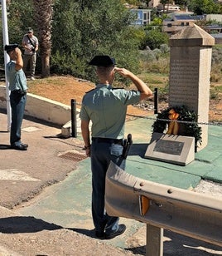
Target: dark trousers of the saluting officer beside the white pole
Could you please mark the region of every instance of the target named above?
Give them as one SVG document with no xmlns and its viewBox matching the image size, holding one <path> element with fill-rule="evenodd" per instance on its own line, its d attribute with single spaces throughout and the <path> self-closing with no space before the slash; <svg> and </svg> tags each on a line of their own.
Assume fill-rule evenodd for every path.
<svg viewBox="0 0 222 256">
<path fill-rule="evenodd" d="M 10 104 L 12 108 L 12 123 L 10 133 L 10 144 L 19 145 L 21 143 L 21 126 L 27 103 L 27 92 L 21 90 L 11 91 Z"/>
</svg>

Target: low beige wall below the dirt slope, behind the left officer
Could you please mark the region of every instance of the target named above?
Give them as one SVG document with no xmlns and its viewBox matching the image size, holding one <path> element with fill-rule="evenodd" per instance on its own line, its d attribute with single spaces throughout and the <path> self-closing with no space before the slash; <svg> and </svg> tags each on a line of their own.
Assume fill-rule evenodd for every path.
<svg viewBox="0 0 222 256">
<path fill-rule="evenodd" d="M 7 109 L 5 86 L 0 86 L 0 109 Z M 76 112 L 78 114 L 80 109 L 77 109 Z M 63 126 L 71 120 L 71 107 L 57 101 L 51 101 L 44 97 L 27 93 L 25 115 Z"/>
</svg>

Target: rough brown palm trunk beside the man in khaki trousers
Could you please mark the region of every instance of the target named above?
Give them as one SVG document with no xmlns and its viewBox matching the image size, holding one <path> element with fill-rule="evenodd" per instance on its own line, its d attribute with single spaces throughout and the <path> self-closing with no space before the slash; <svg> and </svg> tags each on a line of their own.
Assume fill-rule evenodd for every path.
<svg viewBox="0 0 222 256">
<path fill-rule="evenodd" d="M 51 21 L 53 0 L 33 0 L 41 52 L 41 75 L 50 76 Z"/>
</svg>

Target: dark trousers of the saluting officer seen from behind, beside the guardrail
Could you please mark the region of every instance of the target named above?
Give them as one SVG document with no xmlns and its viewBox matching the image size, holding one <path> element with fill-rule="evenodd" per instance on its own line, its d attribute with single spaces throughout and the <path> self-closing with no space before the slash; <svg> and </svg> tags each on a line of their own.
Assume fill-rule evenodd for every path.
<svg viewBox="0 0 222 256">
<path fill-rule="evenodd" d="M 104 212 L 105 176 L 110 160 L 123 170 L 126 160 L 122 157 L 123 140 L 92 138 L 92 214 L 96 231 L 113 234 L 118 229 L 118 217 L 111 217 Z"/>
</svg>

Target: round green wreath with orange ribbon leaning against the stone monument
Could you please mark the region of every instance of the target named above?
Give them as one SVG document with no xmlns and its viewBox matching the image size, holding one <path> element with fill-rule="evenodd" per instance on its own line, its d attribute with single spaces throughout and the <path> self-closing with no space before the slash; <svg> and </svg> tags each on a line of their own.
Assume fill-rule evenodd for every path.
<svg viewBox="0 0 222 256">
<path fill-rule="evenodd" d="M 187 121 L 187 123 L 182 121 Z M 181 129 L 181 126 L 183 126 L 183 129 Z M 194 111 L 189 111 L 187 106 L 172 106 L 161 111 L 157 114 L 157 121 L 153 123 L 152 128 L 152 132 L 163 133 L 168 128 L 167 134 L 169 135 L 194 137 L 195 151 L 198 142 L 200 145 L 202 142 L 202 131 L 197 124 L 197 115 Z"/>
</svg>

